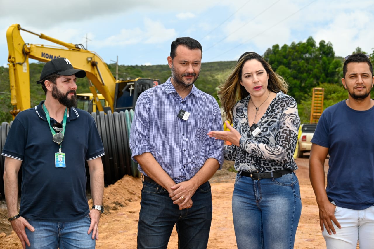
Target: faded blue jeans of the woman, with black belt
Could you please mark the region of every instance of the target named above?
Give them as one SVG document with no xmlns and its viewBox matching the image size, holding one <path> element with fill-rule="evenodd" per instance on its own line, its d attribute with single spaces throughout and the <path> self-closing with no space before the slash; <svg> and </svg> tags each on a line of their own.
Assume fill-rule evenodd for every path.
<svg viewBox="0 0 374 249">
<path fill-rule="evenodd" d="M 237 174 L 232 210 L 237 248 L 294 248 L 301 215 L 295 173 L 261 180 Z"/>
</svg>

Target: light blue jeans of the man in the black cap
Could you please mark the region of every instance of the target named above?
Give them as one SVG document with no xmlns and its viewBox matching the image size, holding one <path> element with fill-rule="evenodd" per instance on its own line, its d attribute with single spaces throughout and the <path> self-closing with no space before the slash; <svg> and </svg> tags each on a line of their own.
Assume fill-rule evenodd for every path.
<svg viewBox="0 0 374 249">
<path fill-rule="evenodd" d="M 77 221 L 49 222 L 27 220 L 35 231 L 25 228 L 30 240 L 30 247 L 26 248 L 95 248 L 95 240 L 91 234 L 87 234 L 91 224 L 89 215 Z"/>
</svg>

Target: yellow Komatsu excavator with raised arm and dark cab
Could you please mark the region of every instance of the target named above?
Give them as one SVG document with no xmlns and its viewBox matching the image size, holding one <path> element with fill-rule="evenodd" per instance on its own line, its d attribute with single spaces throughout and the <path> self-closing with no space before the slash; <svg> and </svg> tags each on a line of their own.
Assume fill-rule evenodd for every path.
<svg viewBox="0 0 374 249">
<path fill-rule="evenodd" d="M 60 46 L 25 43 L 21 37 L 21 30 Z M 95 102 L 97 111 L 110 109 L 113 113 L 132 109 L 135 107 L 140 93 L 160 84 L 159 80 L 150 78 L 116 80 L 101 57 L 95 52 L 86 50 L 82 44 L 66 43 L 45 34 L 37 34 L 21 28 L 19 24 L 13 24 L 7 29 L 6 38 L 9 51 L 10 102 L 13 106 L 13 110 L 10 113 L 13 118 L 20 111 L 30 108 L 28 59 L 48 62 L 54 58 L 66 57 L 74 68 L 86 71 L 91 91 L 89 99 Z M 105 101 L 100 101 L 98 93 L 102 95 Z M 87 96 L 78 96 L 78 101 L 80 99 L 86 100 Z M 107 105 L 102 106 L 101 103 L 106 103 Z"/>
</svg>

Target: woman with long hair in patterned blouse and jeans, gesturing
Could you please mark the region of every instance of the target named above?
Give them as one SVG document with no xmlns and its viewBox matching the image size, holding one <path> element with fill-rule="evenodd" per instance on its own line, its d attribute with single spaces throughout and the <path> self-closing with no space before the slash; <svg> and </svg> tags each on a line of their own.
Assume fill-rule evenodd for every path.
<svg viewBox="0 0 374 249">
<path fill-rule="evenodd" d="M 246 52 L 218 91 L 230 131 L 208 135 L 232 143 L 224 156 L 237 170 L 232 212 L 238 248 L 294 247 L 301 214 L 293 159 L 300 118 L 287 90 L 263 57 Z"/>
</svg>

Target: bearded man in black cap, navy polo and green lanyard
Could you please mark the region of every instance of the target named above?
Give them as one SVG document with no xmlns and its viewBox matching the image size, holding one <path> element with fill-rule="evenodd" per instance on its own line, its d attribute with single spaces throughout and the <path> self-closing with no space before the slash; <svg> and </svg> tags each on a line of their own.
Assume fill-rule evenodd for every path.
<svg viewBox="0 0 374 249">
<path fill-rule="evenodd" d="M 37 81 L 46 99 L 20 112 L 10 127 L 2 152 L 5 198 L 8 220 L 24 248 L 95 248 L 104 211 L 104 148 L 92 116 L 73 107 L 77 77 L 85 76 L 66 58 L 47 62 Z M 91 210 L 85 161 L 91 178 Z"/>
</svg>

